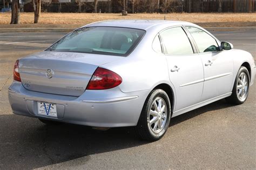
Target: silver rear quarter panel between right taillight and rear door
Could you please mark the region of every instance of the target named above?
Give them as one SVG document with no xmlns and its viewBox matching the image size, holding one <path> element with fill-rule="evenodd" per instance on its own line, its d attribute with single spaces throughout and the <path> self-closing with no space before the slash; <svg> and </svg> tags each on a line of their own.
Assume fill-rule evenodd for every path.
<svg viewBox="0 0 256 170">
<path fill-rule="evenodd" d="M 157 32 L 149 36 L 146 34 L 125 59 L 102 65 L 122 77 L 119 87 L 123 92 L 149 90 L 161 83 L 171 85 L 165 56 L 152 49 L 156 35 Z"/>
</svg>

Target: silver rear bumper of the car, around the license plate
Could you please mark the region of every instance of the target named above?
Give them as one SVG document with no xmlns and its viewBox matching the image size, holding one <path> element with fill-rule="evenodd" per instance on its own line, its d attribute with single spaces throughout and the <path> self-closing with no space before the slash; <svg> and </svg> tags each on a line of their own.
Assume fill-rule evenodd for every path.
<svg viewBox="0 0 256 170">
<path fill-rule="evenodd" d="M 15 114 L 65 123 L 96 126 L 136 126 L 150 90 L 123 93 L 118 87 L 104 91 L 87 90 L 80 97 L 33 92 L 14 81 L 8 97 Z M 37 101 L 54 103 L 57 118 L 37 113 Z"/>
</svg>

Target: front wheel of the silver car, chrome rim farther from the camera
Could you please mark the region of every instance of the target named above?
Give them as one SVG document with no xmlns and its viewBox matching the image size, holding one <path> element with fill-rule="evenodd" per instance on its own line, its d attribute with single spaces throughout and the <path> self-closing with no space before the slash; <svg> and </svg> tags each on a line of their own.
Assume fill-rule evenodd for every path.
<svg viewBox="0 0 256 170">
<path fill-rule="evenodd" d="M 226 100 L 230 104 L 240 105 L 245 103 L 250 87 L 250 74 L 246 67 L 241 66 L 235 78 L 232 94 Z"/>
</svg>

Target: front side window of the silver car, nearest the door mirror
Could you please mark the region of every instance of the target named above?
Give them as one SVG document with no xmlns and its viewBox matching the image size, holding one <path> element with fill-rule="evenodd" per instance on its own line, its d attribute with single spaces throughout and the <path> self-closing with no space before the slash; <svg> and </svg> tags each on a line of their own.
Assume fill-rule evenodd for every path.
<svg viewBox="0 0 256 170">
<path fill-rule="evenodd" d="M 208 33 L 192 26 L 186 26 L 186 28 L 197 43 L 200 53 L 219 51 L 216 40 Z"/>
</svg>

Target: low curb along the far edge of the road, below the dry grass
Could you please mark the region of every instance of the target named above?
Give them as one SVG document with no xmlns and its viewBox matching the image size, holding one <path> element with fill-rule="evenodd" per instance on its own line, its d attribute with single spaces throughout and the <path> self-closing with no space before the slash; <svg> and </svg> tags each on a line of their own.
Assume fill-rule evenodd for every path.
<svg viewBox="0 0 256 170">
<path fill-rule="evenodd" d="M 77 28 L 0 28 L 0 32 L 70 32 Z M 207 31 L 250 31 L 256 26 L 244 27 L 205 27 Z"/>
</svg>

